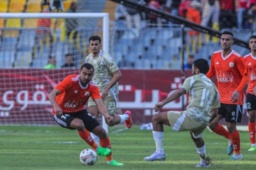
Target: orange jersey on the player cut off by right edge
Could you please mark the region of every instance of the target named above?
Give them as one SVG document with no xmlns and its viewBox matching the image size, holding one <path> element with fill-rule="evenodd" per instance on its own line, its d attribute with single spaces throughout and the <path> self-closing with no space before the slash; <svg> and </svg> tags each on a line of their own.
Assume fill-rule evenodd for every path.
<svg viewBox="0 0 256 170">
<path fill-rule="evenodd" d="M 256 87 L 256 57 L 253 57 L 250 53 L 244 56 L 244 63 L 248 69 L 249 74 L 249 85 L 247 92 L 254 95 L 253 88 Z"/>
</svg>

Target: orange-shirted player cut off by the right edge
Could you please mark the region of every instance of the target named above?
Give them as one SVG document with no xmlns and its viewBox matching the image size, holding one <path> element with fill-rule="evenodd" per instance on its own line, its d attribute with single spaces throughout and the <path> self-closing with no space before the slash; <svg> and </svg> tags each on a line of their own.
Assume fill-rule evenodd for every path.
<svg viewBox="0 0 256 170">
<path fill-rule="evenodd" d="M 248 151 L 256 151 L 255 142 L 255 120 L 256 120 L 256 35 L 252 35 L 249 39 L 249 47 L 251 53 L 244 56 L 244 62 L 249 73 L 249 85 L 246 94 L 247 111 L 249 114 L 249 136 L 251 148 Z"/>
</svg>

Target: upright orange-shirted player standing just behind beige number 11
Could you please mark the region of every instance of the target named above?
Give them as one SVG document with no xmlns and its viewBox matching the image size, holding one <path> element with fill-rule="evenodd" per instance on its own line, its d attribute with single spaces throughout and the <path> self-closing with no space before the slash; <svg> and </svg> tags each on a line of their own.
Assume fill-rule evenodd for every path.
<svg viewBox="0 0 256 170">
<path fill-rule="evenodd" d="M 206 74 L 208 78 L 215 75 L 216 85 L 220 93 L 220 108 L 218 115 L 208 126 L 216 134 L 229 140 L 227 154 L 232 159 L 242 159 L 240 149 L 240 136 L 237 130 L 237 122 L 241 122 L 244 103 L 244 86 L 249 77 L 243 57 L 231 46 L 234 43 L 233 34 L 224 31 L 221 34 L 220 43 L 222 50 L 215 51 L 211 58 L 211 66 Z M 219 124 L 220 119 L 225 118 L 227 130 Z"/>
</svg>

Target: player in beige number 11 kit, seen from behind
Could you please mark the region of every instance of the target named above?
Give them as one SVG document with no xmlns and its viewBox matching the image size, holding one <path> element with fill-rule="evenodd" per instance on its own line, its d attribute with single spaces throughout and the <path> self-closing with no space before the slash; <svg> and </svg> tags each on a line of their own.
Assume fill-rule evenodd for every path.
<svg viewBox="0 0 256 170">
<path fill-rule="evenodd" d="M 164 161 L 166 159 L 163 147 L 163 125 L 166 124 L 172 126 L 174 131 L 190 130 L 191 138 L 196 144 L 196 151 L 200 155 L 200 163 L 196 167 L 209 167 L 205 144 L 201 136 L 208 122 L 218 113 L 220 97 L 214 83 L 205 75 L 208 70 L 207 60 L 197 59 L 192 66 L 193 76 L 185 79 L 179 90 L 155 104 L 155 112 L 158 112 L 165 104 L 189 92 L 189 105 L 185 111 L 169 111 L 153 115 L 153 137 L 156 150 L 144 160 Z"/>
</svg>

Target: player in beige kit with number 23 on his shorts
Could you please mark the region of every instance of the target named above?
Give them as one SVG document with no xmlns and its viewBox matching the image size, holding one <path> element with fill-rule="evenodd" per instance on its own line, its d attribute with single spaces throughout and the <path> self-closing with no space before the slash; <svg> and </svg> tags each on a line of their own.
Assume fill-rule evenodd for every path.
<svg viewBox="0 0 256 170">
<path fill-rule="evenodd" d="M 112 122 L 107 122 L 107 125 L 113 126 L 125 122 L 127 128 L 131 128 L 131 112 L 126 111 L 125 114 L 115 114 L 116 102 L 118 99 L 118 80 L 122 74 L 114 62 L 113 58 L 106 53 L 101 51 L 101 37 L 98 35 L 92 35 L 89 38 L 89 49 L 92 51 L 85 58 L 85 62 L 91 63 L 95 68 L 95 76 L 92 81 L 98 85 L 101 98 L 107 108 L 107 113 L 113 116 Z M 90 98 L 88 102 L 89 113 L 95 118 L 98 117 L 100 111 L 97 109 L 95 102 Z M 98 137 L 91 133 L 91 136 L 98 142 Z"/>
</svg>

